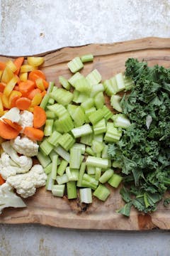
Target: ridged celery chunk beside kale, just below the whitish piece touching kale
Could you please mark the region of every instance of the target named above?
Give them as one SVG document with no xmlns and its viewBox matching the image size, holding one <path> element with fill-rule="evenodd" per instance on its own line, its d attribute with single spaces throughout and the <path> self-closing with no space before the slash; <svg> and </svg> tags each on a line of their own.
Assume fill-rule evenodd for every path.
<svg viewBox="0 0 170 256">
<path fill-rule="evenodd" d="M 107 132 L 105 134 L 104 140 L 106 142 L 118 142 L 120 137 L 122 137 L 122 130 L 115 128 L 112 122 L 108 122 Z"/>
</svg>

